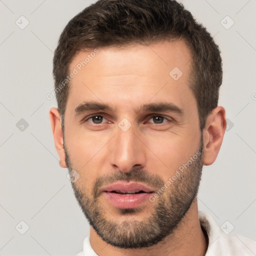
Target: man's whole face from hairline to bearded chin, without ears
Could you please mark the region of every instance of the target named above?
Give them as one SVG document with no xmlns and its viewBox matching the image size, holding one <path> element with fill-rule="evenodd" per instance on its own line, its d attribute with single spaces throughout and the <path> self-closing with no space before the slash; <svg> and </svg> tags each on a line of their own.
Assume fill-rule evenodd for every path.
<svg viewBox="0 0 256 256">
<path fill-rule="evenodd" d="M 180 40 L 93 50 L 70 63 L 78 71 L 64 115 L 65 161 L 79 174 L 72 187 L 104 241 L 150 246 L 173 232 L 199 185 L 191 54 Z"/>
</svg>

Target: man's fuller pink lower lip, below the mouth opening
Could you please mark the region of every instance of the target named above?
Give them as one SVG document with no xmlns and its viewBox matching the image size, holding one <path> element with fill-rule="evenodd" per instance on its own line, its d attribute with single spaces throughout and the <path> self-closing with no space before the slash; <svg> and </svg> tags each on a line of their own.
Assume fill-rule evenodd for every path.
<svg viewBox="0 0 256 256">
<path fill-rule="evenodd" d="M 138 194 L 118 194 L 104 191 L 103 194 L 113 206 L 127 209 L 140 206 L 143 202 L 149 200 L 148 198 L 153 194 L 153 192 Z"/>
</svg>

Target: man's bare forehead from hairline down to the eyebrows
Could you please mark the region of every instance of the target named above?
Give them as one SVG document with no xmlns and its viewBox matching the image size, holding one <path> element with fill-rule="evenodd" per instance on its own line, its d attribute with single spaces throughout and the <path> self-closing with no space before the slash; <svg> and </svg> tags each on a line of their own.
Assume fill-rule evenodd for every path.
<svg viewBox="0 0 256 256">
<path fill-rule="evenodd" d="M 127 107 L 151 100 L 187 100 L 191 53 L 183 40 L 77 51 L 69 65 L 66 109 L 82 101 Z M 191 95 L 190 95 L 191 96 Z"/>
</svg>

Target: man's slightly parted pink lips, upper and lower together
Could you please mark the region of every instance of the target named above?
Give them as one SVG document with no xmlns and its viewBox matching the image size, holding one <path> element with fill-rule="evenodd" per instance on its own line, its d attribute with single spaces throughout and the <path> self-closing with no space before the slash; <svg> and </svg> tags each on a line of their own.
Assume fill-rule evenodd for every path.
<svg viewBox="0 0 256 256">
<path fill-rule="evenodd" d="M 134 208 L 148 201 L 155 189 L 137 182 L 116 182 L 105 186 L 101 192 L 117 208 Z"/>
</svg>

